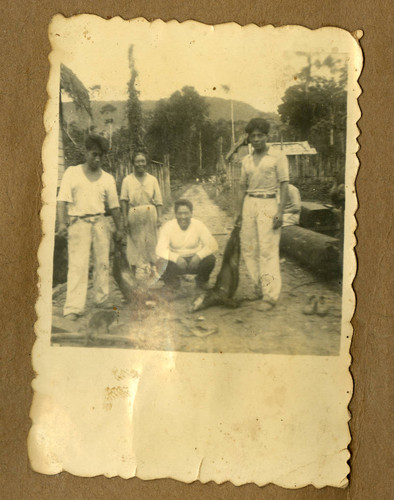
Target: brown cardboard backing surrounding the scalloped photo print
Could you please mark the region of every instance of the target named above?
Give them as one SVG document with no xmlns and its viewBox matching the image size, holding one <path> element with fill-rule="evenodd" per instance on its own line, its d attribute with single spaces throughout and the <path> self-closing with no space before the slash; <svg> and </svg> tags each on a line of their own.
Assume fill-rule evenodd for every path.
<svg viewBox="0 0 394 500">
<path fill-rule="evenodd" d="M 3 2 L 0 51 L 0 335 L 1 446 L 0 496 L 4 499 L 384 499 L 390 498 L 389 336 L 391 308 L 390 224 L 392 213 L 389 150 L 393 32 L 390 1 L 347 0 L 25 0 Z M 235 487 L 230 483 L 187 485 L 170 479 L 141 481 L 92 479 L 68 473 L 44 476 L 29 468 L 26 437 L 34 376 L 36 252 L 40 241 L 41 147 L 50 46 L 47 27 L 55 13 L 94 13 L 102 17 L 143 16 L 148 20 L 195 19 L 215 24 L 302 24 L 362 29 L 365 66 L 360 84 L 363 117 L 357 178 L 357 310 L 352 345 L 355 393 L 350 410 L 351 481 L 339 490 L 307 487 L 284 490 L 273 485 Z M 390 106 L 391 104 L 391 106 Z M 240 467 L 242 464 L 240 463 Z"/>
</svg>

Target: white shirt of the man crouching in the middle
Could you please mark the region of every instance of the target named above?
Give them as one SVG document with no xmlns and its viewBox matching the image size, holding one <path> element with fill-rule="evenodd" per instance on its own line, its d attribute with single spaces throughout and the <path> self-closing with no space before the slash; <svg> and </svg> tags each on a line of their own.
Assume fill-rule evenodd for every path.
<svg viewBox="0 0 394 500">
<path fill-rule="evenodd" d="M 178 221 L 173 219 L 161 228 L 156 254 L 162 259 L 176 262 L 178 257 L 194 254 L 204 259 L 217 249 L 217 241 L 203 222 L 192 219 L 189 227 L 183 231 Z"/>
</svg>

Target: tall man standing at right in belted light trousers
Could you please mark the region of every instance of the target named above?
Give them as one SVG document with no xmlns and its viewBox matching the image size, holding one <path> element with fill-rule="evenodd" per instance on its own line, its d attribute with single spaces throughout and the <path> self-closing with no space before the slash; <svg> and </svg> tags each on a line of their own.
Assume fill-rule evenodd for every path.
<svg viewBox="0 0 394 500">
<path fill-rule="evenodd" d="M 267 146 L 269 123 L 251 120 L 245 129 L 253 153 L 242 161 L 238 213 L 242 219 L 241 251 L 262 308 L 271 309 L 281 289 L 279 267 L 280 228 L 287 203 L 287 157 Z M 280 192 L 280 201 L 277 192 Z"/>
</svg>

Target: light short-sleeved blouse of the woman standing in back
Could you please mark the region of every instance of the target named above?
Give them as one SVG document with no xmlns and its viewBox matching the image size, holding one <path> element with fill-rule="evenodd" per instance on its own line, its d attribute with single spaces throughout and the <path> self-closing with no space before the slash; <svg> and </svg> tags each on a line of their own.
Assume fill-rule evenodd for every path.
<svg viewBox="0 0 394 500">
<path fill-rule="evenodd" d="M 163 205 L 159 183 L 156 177 L 146 173 L 140 180 L 134 174 L 123 179 L 120 199 L 126 200 L 130 205 Z"/>
</svg>

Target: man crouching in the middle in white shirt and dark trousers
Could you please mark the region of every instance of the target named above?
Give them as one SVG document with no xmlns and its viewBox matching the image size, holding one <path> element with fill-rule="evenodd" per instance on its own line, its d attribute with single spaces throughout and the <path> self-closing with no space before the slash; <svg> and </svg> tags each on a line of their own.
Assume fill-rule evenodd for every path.
<svg viewBox="0 0 394 500">
<path fill-rule="evenodd" d="M 176 218 L 167 222 L 159 235 L 157 269 L 169 288 L 179 287 L 180 275 L 195 274 L 196 286 L 206 289 L 218 244 L 205 224 L 192 217 L 189 200 L 177 200 L 174 210 Z"/>
</svg>

